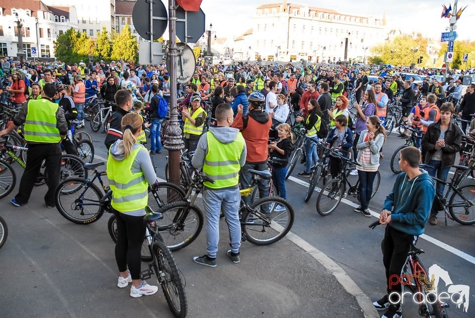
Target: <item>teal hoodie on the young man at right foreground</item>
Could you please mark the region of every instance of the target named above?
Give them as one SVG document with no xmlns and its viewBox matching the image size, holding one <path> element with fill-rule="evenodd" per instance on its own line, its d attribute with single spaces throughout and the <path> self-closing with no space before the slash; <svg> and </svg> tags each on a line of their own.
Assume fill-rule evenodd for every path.
<svg viewBox="0 0 475 318">
<path fill-rule="evenodd" d="M 410 235 L 424 233 L 430 207 L 435 197 L 435 183 L 426 171 L 412 180 L 400 173 L 387 195 L 383 210 L 391 211 L 392 228 Z"/>
</svg>

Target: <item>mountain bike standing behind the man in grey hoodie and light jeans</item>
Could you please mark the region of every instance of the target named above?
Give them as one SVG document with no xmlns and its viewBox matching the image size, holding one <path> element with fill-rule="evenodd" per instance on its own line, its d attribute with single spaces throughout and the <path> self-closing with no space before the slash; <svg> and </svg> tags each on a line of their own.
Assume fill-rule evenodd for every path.
<svg viewBox="0 0 475 318">
<path fill-rule="evenodd" d="M 249 172 L 266 180 L 272 177 L 268 170 L 250 169 Z M 158 210 L 164 216 L 164 220 L 157 225 L 158 231 L 172 251 L 188 246 L 198 237 L 203 227 L 203 212 L 194 205 L 194 202 L 203 190 L 203 182 L 213 183 L 214 181 L 198 170 L 195 170 L 193 179 L 193 184 L 185 195 L 186 200 L 166 204 Z M 290 231 L 294 212 L 288 201 L 279 197 L 268 197 L 251 204 L 246 203 L 242 198 L 249 196 L 255 185 L 255 180 L 253 180 L 249 188 L 240 190 L 241 239 L 256 245 L 272 244 L 285 237 Z M 279 209 L 278 206 L 282 208 Z"/>
</svg>

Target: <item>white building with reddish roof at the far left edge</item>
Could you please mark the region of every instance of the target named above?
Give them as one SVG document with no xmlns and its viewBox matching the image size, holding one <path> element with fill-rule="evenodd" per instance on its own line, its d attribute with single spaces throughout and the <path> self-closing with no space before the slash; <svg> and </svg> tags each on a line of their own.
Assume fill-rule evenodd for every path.
<svg viewBox="0 0 475 318">
<path fill-rule="evenodd" d="M 0 15 L 0 56 L 19 53 L 18 25 L 27 60 L 54 60 L 56 37 L 71 27 L 78 29 L 74 6 L 51 6 L 40 0 L 0 0 Z"/>
</svg>

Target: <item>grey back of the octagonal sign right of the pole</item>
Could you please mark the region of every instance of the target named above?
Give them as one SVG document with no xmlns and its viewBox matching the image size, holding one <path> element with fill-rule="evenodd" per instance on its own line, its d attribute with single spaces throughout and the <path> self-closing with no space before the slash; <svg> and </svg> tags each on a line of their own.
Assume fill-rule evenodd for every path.
<svg viewBox="0 0 475 318">
<path fill-rule="evenodd" d="M 196 43 L 204 33 L 204 12 L 199 9 L 195 11 L 185 11 L 182 7 L 177 7 L 177 37 L 182 42 Z"/>
</svg>

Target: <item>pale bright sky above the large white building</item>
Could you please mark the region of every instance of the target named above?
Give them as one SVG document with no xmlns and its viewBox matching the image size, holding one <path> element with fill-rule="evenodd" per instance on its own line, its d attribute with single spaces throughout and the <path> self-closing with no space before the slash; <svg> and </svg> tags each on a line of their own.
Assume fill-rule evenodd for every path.
<svg viewBox="0 0 475 318">
<path fill-rule="evenodd" d="M 208 26 L 213 24 L 218 38 L 234 38 L 241 35 L 252 26 L 251 18 L 257 6 L 266 3 L 282 3 L 281 0 L 203 0 L 201 9 L 205 13 Z M 217 5 L 219 3 L 219 5 Z M 449 6 L 446 0 L 295 0 L 287 3 L 308 4 L 321 8 L 333 9 L 339 13 L 357 14 L 361 16 L 376 16 L 382 18 L 386 12 L 386 21 L 392 29 L 401 29 L 408 33 L 411 31 L 422 32 L 424 36 L 440 39 L 441 32 L 446 32 L 449 19 L 440 18 L 442 5 Z M 331 3 L 331 5 L 327 4 Z M 453 6 L 454 0 L 450 2 Z M 475 21 L 475 1 L 458 1 L 458 8 L 467 9 L 457 21 L 457 40 L 475 40 L 473 26 Z"/>
</svg>

